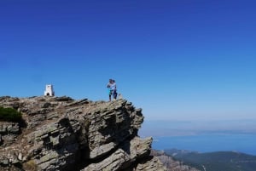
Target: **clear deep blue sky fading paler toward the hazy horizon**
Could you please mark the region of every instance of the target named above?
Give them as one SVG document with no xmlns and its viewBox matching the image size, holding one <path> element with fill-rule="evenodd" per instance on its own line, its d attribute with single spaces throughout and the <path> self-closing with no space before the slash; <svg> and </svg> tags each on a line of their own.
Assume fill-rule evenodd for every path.
<svg viewBox="0 0 256 171">
<path fill-rule="evenodd" d="M 254 0 L 1 0 L 0 96 L 108 100 L 148 120 L 256 119 Z"/>
</svg>

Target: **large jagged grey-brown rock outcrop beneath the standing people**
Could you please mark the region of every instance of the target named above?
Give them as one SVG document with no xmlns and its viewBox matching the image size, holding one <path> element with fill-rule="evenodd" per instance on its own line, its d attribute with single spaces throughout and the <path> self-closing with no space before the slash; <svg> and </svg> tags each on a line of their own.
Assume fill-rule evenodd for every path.
<svg viewBox="0 0 256 171">
<path fill-rule="evenodd" d="M 127 100 L 0 97 L 23 121 L 0 121 L 0 170 L 166 170 L 137 135 L 142 109 Z"/>
</svg>

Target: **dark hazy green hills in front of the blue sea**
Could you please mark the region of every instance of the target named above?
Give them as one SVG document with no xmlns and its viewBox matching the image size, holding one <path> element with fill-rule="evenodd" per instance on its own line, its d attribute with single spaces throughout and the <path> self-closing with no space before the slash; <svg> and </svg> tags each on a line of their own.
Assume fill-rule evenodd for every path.
<svg viewBox="0 0 256 171">
<path fill-rule="evenodd" d="M 165 150 L 166 155 L 202 171 L 255 171 L 256 157 L 236 151 L 199 153 Z"/>
</svg>

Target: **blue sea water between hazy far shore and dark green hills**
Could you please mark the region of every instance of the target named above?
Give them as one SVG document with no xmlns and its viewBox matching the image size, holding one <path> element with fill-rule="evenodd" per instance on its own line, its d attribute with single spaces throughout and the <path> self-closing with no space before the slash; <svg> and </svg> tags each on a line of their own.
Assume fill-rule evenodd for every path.
<svg viewBox="0 0 256 171">
<path fill-rule="evenodd" d="M 256 156 L 256 134 L 197 134 L 153 138 L 152 148 L 155 150 L 239 151 Z"/>
</svg>

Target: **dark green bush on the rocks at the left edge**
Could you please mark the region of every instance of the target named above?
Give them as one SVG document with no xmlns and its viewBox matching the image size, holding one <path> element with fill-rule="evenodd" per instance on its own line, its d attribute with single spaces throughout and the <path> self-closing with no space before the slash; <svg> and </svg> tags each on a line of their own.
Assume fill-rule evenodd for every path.
<svg viewBox="0 0 256 171">
<path fill-rule="evenodd" d="M 14 108 L 0 107 L 0 121 L 20 122 L 22 120 L 21 113 Z"/>
</svg>

